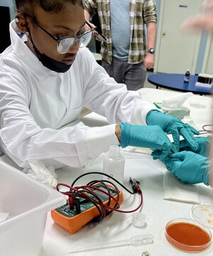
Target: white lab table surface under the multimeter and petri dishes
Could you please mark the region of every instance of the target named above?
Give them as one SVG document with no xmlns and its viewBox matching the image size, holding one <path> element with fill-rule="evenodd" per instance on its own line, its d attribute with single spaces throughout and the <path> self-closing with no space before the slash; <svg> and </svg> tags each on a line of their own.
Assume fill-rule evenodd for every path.
<svg viewBox="0 0 213 256">
<path fill-rule="evenodd" d="M 163 97 L 170 97 L 179 92 L 170 92 L 165 90 L 142 89 L 141 95 L 151 101 L 160 101 Z M 193 104 L 190 105 L 190 102 Z M 202 108 L 196 106 L 200 105 Z M 192 119 L 198 129 L 202 124 L 211 123 L 209 114 L 212 112 L 211 97 L 192 96 L 187 100 L 187 105 L 190 107 Z M 82 118 L 85 124 L 91 126 L 104 125 L 107 121 L 104 117 L 91 113 Z M 72 181 L 88 171 L 102 171 L 102 161 L 94 161 L 84 168 L 65 167 L 58 169 L 58 182 L 71 184 Z M 131 224 L 132 213 L 112 213 L 104 218 L 99 223 L 89 223 L 77 233 L 71 234 L 53 223 L 50 213 L 48 213 L 45 235 L 43 240 L 43 248 L 38 256 L 65 256 L 67 252 L 78 247 L 87 245 L 95 245 L 113 240 L 124 240 L 131 238 L 133 235 L 151 234 L 153 235 L 153 244 L 141 246 L 125 246 L 115 247 L 105 250 L 96 250 L 91 252 L 80 252 L 74 255 L 85 256 L 141 256 L 144 250 L 149 252 L 150 256 L 181 256 L 189 255 L 188 252 L 182 252 L 171 246 L 164 236 L 165 225 L 168 221 L 174 218 L 191 218 L 190 209 L 192 204 L 180 203 L 175 201 L 163 200 L 163 177 L 165 167 L 160 161 L 153 161 L 150 157 L 147 159 L 126 159 L 124 183 L 129 186 L 129 176 L 136 178 L 141 183 L 143 191 L 143 213 L 146 214 L 146 225 L 138 228 Z M 97 176 L 86 176 L 82 178 L 82 184 L 90 181 Z M 203 184 L 195 185 L 200 192 L 200 200 L 208 203 L 212 202 L 212 188 Z M 129 186 L 130 188 L 130 186 Z M 136 208 L 139 202 L 139 196 L 132 196 L 129 193 L 124 193 L 124 203 L 121 209 L 131 210 Z M 213 229 L 211 229 L 213 233 Z M 190 255 L 212 255 L 212 245 L 200 253 L 190 253 Z M 71 254 L 72 255 L 72 254 Z"/>
</svg>

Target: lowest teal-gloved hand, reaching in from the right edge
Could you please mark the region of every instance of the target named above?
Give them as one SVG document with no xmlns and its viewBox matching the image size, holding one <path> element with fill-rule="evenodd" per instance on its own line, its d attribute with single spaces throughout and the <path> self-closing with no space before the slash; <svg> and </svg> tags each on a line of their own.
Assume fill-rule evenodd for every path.
<svg viewBox="0 0 213 256">
<path fill-rule="evenodd" d="M 172 154 L 163 160 L 168 171 L 185 183 L 209 185 L 209 159 L 190 151 Z"/>
</svg>

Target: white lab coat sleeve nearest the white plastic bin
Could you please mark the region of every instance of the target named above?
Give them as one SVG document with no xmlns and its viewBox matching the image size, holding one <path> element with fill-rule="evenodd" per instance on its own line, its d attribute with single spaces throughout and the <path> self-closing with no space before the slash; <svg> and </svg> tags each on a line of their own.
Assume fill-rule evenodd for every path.
<svg viewBox="0 0 213 256">
<path fill-rule="evenodd" d="M 98 134 L 82 123 L 61 130 L 41 128 L 29 110 L 28 82 L 20 73 L 0 75 L 0 144 L 18 166 L 26 167 L 33 159 L 55 159 L 79 167 L 107 151 L 109 145 L 119 144 L 115 124 L 99 127 Z"/>
</svg>

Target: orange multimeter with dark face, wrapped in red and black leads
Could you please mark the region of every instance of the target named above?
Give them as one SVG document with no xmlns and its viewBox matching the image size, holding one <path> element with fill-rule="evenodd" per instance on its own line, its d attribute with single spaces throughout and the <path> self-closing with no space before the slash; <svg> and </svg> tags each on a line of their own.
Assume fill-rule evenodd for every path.
<svg viewBox="0 0 213 256">
<path fill-rule="evenodd" d="M 102 190 L 110 193 L 116 200 L 119 201 L 119 204 L 123 203 L 124 196 L 122 191 L 116 189 L 109 184 L 104 185 L 102 183 L 94 184 L 97 188 L 101 188 Z M 111 200 L 109 203 L 109 197 L 103 193 L 102 191 L 95 191 L 97 196 L 101 198 L 103 204 L 105 206 L 109 206 L 113 208 L 115 206 L 115 201 Z M 76 208 L 70 209 L 69 200 L 67 199 L 67 203 L 64 206 L 60 206 L 55 210 L 51 210 L 51 217 L 53 218 L 54 222 L 60 225 L 65 230 L 69 231 L 70 233 L 75 233 L 80 230 L 84 225 L 89 223 L 90 220 L 93 220 L 97 216 L 99 216 L 99 210 L 92 201 L 84 200 L 84 198 L 79 198 L 80 201 L 80 213 L 77 213 Z"/>
</svg>

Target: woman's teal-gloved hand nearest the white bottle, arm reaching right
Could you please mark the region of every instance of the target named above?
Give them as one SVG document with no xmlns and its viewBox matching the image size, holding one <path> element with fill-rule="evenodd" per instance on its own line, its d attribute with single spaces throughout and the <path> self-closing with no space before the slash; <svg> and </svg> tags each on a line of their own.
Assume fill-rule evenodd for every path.
<svg viewBox="0 0 213 256">
<path fill-rule="evenodd" d="M 158 125 L 133 125 L 121 123 L 121 147 L 141 146 L 158 149 L 160 159 L 165 159 L 171 151 L 177 152 L 167 135 Z"/>
</svg>

